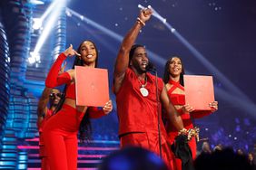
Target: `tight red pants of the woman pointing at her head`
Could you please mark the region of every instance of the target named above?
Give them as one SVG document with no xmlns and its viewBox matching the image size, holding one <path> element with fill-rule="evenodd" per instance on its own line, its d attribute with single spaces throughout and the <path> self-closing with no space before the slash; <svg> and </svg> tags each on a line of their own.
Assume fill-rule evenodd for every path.
<svg viewBox="0 0 256 170">
<path fill-rule="evenodd" d="M 43 128 L 47 162 L 53 170 L 77 169 L 77 133 L 84 114 L 63 105 Z"/>
</svg>

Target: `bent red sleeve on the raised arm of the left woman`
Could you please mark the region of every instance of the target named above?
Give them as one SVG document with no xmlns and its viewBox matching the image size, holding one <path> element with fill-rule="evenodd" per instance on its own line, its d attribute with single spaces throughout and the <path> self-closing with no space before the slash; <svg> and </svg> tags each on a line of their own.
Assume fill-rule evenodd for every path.
<svg viewBox="0 0 256 170">
<path fill-rule="evenodd" d="M 61 70 L 62 63 L 66 59 L 66 56 L 64 53 L 61 53 L 57 60 L 54 62 L 52 68 L 50 69 L 46 80 L 45 80 L 45 86 L 47 88 L 54 88 L 56 86 L 63 85 L 64 83 L 68 83 L 71 80 L 71 77 L 69 73 L 64 72 L 62 74 L 59 74 L 59 71 Z"/>
</svg>

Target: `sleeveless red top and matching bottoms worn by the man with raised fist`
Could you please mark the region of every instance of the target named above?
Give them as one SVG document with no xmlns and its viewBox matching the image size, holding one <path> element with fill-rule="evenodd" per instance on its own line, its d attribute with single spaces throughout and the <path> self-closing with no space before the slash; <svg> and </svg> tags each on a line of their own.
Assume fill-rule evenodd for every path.
<svg viewBox="0 0 256 170">
<path fill-rule="evenodd" d="M 158 78 L 158 96 L 156 96 L 156 77 L 150 73 L 146 73 L 146 77 L 145 88 L 149 92 L 147 97 L 143 97 L 140 91 L 141 83 L 145 84 L 145 82 L 140 82 L 135 72 L 130 68 L 125 72 L 122 87 L 115 94 L 119 119 L 119 137 L 121 147 L 142 146 L 159 155 L 158 113 L 162 114 L 162 106 L 159 101 L 163 82 Z M 166 131 L 162 119 L 160 127 L 162 159 L 168 163 L 172 157 L 166 143 Z"/>
</svg>

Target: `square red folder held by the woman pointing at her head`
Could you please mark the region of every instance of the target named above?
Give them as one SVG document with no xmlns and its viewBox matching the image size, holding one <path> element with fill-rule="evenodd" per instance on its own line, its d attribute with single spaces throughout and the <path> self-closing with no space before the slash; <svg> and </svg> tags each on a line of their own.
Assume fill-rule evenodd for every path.
<svg viewBox="0 0 256 170">
<path fill-rule="evenodd" d="M 109 100 L 108 71 L 83 66 L 74 71 L 76 105 L 103 107 Z"/>
</svg>

